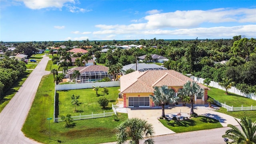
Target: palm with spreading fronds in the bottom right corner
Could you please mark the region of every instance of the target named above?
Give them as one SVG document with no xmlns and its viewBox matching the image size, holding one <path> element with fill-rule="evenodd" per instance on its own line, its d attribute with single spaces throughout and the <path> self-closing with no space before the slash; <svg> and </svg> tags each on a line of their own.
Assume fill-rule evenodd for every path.
<svg viewBox="0 0 256 144">
<path fill-rule="evenodd" d="M 236 121 L 238 122 L 237 119 Z M 233 140 L 233 142 L 230 142 L 229 144 L 256 144 L 256 121 L 252 123 L 251 119 L 243 117 L 238 124 L 241 126 L 242 131 L 236 126 L 228 124 L 228 127 L 231 129 L 226 130 L 225 134 L 222 135 L 222 138 Z"/>
</svg>

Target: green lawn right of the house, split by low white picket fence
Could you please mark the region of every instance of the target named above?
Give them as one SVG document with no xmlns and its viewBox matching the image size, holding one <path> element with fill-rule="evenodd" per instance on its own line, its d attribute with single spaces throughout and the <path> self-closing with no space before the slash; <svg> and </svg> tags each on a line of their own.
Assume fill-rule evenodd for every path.
<svg viewBox="0 0 256 144">
<path fill-rule="evenodd" d="M 239 96 L 233 93 L 229 93 L 228 95 L 226 95 L 224 90 L 220 90 L 218 88 L 211 88 L 211 90 L 208 91 L 208 96 L 214 98 L 215 100 L 218 100 L 219 102 L 222 102 L 222 103 L 226 102 L 226 104 L 229 106 L 234 106 L 234 107 L 241 107 L 242 105 L 256 106 L 255 100 L 246 98 L 244 96 Z M 226 108 L 220 108 L 220 110 L 218 110 L 217 112 L 228 114 L 235 118 L 241 118 L 241 117 L 247 116 L 248 118 L 251 118 L 252 121 L 256 120 L 256 110 L 227 112 Z"/>
</svg>

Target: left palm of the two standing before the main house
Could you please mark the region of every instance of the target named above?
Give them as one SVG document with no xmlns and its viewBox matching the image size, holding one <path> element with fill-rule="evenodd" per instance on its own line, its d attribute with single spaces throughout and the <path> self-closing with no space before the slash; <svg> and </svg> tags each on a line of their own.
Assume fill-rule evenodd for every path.
<svg viewBox="0 0 256 144">
<path fill-rule="evenodd" d="M 154 95 L 150 94 L 150 98 L 153 100 L 155 105 L 160 104 L 162 106 L 162 117 L 164 114 L 164 105 L 167 102 L 176 102 L 176 97 L 174 96 L 174 90 L 169 89 L 168 86 L 154 87 Z"/>
</svg>

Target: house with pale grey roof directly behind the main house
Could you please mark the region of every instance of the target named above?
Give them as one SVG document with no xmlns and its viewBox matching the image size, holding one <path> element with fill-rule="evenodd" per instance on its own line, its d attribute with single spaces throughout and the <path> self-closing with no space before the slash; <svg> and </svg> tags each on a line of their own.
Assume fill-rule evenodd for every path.
<svg viewBox="0 0 256 144">
<path fill-rule="evenodd" d="M 163 66 L 159 66 L 157 64 L 137 63 L 137 69 L 136 69 L 136 64 L 128 64 L 126 66 L 123 66 L 121 71 L 123 74 L 126 74 L 126 70 L 128 69 L 138 70 L 140 72 L 144 72 L 146 70 L 167 70 L 167 68 Z"/>
</svg>

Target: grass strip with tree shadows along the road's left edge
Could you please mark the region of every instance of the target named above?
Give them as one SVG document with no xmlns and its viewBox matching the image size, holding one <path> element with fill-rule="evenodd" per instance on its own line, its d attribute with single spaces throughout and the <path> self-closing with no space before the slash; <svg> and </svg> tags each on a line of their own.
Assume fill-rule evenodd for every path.
<svg viewBox="0 0 256 144">
<path fill-rule="evenodd" d="M 4 107 L 10 102 L 10 100 L 14 97 L 16 92 L 20 89 L 22 84 L 25 82 L 25 80 L 28 78 L 29 74 L 32 72 L 32 70 L 27 70 L 25 74 L 20 77 L 13 85 L 10 90 L 5 92 L 3 95 L 1 95 L 1 102 L 0 102 L 0 112 L 4 109 Z"/>
</svg>

